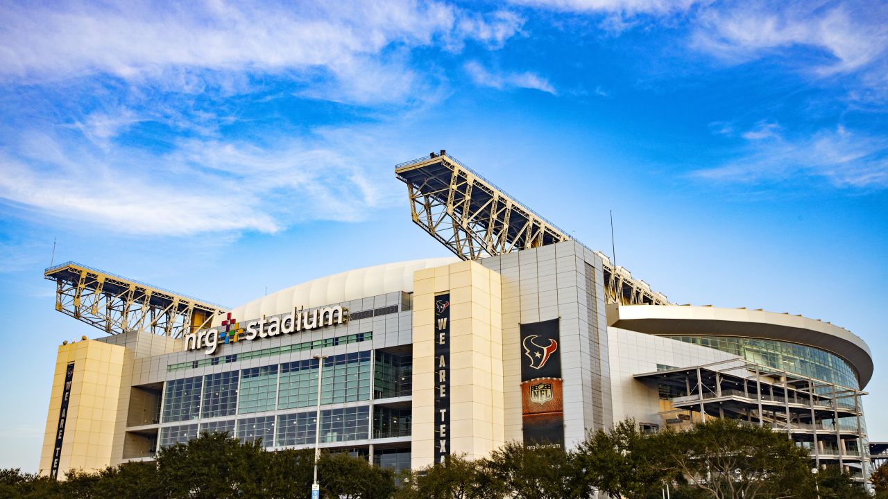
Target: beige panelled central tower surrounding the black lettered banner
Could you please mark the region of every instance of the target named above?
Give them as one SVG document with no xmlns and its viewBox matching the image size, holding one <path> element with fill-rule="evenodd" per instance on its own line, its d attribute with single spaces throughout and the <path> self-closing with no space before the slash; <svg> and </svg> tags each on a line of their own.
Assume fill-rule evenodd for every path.
<svg viewBox="0 0 888 499">
<path fill-rule="evenodd" d="M 450 294 L 450 454 L 490 455 L 505 443 L 500 276 L 464 261 L 417 271 L 413 310 L 414 469 L 434 459 L 433 302 Z"/>
</svg>

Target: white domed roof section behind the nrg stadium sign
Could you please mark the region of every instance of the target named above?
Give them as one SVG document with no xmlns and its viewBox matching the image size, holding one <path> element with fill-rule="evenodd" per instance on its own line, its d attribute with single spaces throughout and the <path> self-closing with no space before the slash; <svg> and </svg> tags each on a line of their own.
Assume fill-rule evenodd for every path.
<svg viewBox="0 0 888 499">
<path fill-rule="evenodd" d="M 458 261 L 457 257 L 425 258 L 335 273 L 257 298 L 235 307 L 231 313 L 239 320 L 250 320 L 286 313 L 297 306 L 313 308 L 393 291 L 412 292 L 414 272 Z M 213 325 L 218 326 L 222 320 L 223 317 L 216 317 Z"/>
</svg>

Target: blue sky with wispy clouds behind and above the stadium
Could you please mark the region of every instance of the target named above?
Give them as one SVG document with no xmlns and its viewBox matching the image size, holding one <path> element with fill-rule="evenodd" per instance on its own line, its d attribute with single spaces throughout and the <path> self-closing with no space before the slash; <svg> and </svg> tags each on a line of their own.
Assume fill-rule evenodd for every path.
<svg viewBox="0 0 888 499">
<path fill-rule="evenodd" d="M 677 303 L 852 330 L 888 440 L 888 6 L 0 1 L 0 467 L 36 471 L 75 260 L 227 305 L 446 256 L 448 149 Z"/>
</svg>

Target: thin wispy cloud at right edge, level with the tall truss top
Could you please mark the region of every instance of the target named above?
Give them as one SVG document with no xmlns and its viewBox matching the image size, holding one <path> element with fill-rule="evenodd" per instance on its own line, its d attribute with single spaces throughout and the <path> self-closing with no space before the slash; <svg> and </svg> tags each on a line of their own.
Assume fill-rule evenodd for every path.
<svg viewBox="0 0 888 499">
<path fill-rule="evenodd" d="M 819 131 L 785 139 L 778 133 L 743 134 L 749 142 L 740 159 L 694 171 L 694 177 L 719 182 L 759 184 L 799 177 L 827 179 L 837 187 L 888 188 L 888 139 L 847 131 Z"/>
</svg>

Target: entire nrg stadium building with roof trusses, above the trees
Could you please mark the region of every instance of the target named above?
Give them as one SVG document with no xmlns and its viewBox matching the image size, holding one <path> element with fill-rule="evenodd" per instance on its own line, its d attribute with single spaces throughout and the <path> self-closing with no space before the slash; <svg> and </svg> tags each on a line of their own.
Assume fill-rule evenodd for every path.
<svg viewBox="0 0 888 499">
<path fill-rule="evenodd" d="M 68 262 L 40 469 L 153 459 L 201 432 L 320 446 L 397 469 L 510 440 L 572 448 L 632 417 L 768 425 L 865 479 L 851 332 L 787 313 L 675 305 L 444 151 L 396 167 L 414 222 L 456 257 L 349 270 L 229 309 Z M 326 356 L 319 359 L 318 356 Z M 322 368 L 321 368 L 322 360 Z"/>
</svg>

